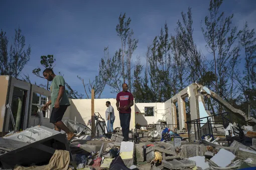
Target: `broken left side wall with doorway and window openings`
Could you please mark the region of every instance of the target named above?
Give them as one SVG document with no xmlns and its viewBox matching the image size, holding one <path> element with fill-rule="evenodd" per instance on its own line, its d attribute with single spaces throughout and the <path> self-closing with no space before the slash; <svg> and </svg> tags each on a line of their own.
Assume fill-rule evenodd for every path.
<svg viewBox="0 0 256 170">
<path fill-rule="evenodd" d="M 31 114 L 33 93 L 41 93 L 49 96 L 50 98 L 50 91 L 9 75 L 1 75 L 0 81 L 0 132 L 7 133 L 14 129 L 11 121 L 11 109 L 15 117 L 16 130 L 26 129 L 27 127 L 38 125 L 39 117 L 33 117 Z M 47 101 L 49 98 L 47 98 Z M 6 107 L 8 103 L 10 104 L 11 108 Z M 37 106 L 36 108 L 38 109 Z M 43 118 L 42 125 L 52 128 L 53 125 L 49 123 L 49 112 L 50 109 L 48 110 L 48 116 Z"/>
</svg>

